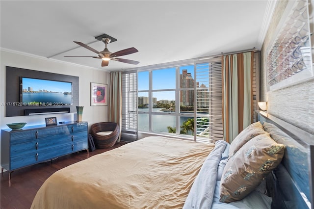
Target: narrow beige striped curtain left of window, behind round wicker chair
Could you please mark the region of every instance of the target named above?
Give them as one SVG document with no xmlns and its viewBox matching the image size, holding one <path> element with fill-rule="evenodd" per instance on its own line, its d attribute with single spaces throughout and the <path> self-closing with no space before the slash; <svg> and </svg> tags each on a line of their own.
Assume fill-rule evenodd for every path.
<svg viewBox="0 0 314 209">
<path fill-rule="evenodd" d="M 110 94 L 109 94 L 109 121 L 115 122 L 120 127 L 122 125 L 122 72 L 110 73 Z"/>
</svg>

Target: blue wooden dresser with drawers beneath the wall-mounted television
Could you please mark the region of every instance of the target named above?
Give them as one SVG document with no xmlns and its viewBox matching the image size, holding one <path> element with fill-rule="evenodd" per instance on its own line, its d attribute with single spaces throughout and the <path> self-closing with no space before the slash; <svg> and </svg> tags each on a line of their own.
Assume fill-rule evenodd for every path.
<svg viewBox="0 0 314 209">
<path fill-rule="evenodd" d="M 88 123 L 29 126 L 1 130 L 1 166 L 10 171 L 88 150 Z"/>
</svg>

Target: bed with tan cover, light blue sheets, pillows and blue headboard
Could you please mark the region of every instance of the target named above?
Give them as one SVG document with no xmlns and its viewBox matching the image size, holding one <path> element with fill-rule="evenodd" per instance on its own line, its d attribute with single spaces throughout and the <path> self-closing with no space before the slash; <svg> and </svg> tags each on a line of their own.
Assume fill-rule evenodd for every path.
<svg viewBox="0 0 314 209">
<path fill-rule="evenodd" d="M 48 178 L 31 209 L 313 209 L 313 142 L 291 138 L 268 115 L 259 119 L 232 144 L 150 136 L 89 157 Z M 268 161 L 254 170 L 252 159 L 260 163 L 265 152 Z M 241 183 L 235 171 L 247 165 Z M 236 183 L 241 189 L 231 192 Z"/>
</svg>

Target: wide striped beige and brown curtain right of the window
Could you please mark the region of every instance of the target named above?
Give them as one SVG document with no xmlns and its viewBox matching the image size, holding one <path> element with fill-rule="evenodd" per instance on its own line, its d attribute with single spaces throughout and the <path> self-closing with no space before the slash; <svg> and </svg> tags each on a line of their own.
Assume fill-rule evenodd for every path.
<svg viewBox="0 0 314 209">
<path fill-rule="evenodd" d="M 222 117 L 224 139 L 229 143 L 253 122 L 253 55 L 222 56 Z"/>
</svg>

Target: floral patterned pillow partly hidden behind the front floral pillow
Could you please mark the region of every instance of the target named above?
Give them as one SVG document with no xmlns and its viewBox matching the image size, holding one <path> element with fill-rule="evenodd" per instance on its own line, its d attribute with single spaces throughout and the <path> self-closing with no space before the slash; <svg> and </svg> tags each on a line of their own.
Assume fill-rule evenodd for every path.
<svg viewBox="0 0 314 209">
<path fill-rule="evenodd" d="M 234 156 L 236 151 L 238 151 L 246 142 L 248 142 L 255 136 L 263 133 L 266 133 L 266 131 L 263 130 L 263 126 L 259 121 L 256 123 L 252 123 L 250 126 L 246 127 L 231 142 L 229 149 L 229 158 Z"/>
</svg>

